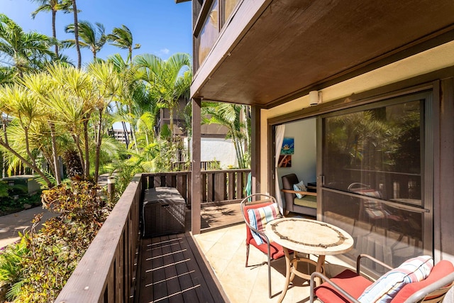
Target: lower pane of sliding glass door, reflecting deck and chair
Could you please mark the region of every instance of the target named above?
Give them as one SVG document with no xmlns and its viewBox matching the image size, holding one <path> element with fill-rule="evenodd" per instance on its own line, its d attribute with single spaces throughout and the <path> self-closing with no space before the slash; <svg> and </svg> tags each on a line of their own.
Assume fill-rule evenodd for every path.
<svg viewBox="0 0 454 303">
<path fill-rule="evenodd" d="M 355 246 L 348 253 L 353 259 L 367 253 L 397 267 L 423 253 L 422 212 L 328 191 L 323 193 L 323 203 L 323 221 L 353 236 Z M 371 203 L 374 207 L 368 209 Z M 370 268 L 372 263 L 365 265 Z M 370 269 L 384 272 L 381 267 Z"/>
</svg>

